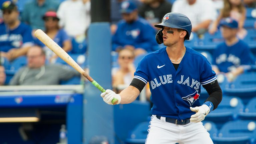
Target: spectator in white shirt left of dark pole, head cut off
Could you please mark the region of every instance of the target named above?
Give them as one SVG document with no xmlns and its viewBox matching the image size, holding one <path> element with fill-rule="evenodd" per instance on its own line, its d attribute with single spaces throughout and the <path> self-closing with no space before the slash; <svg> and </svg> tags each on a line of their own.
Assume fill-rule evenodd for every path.
<svg viewBox="0 0 256 144">
<path fill-rule="evenodd" d="M 60 4 L 57 15 L 60 26 L 69 36 L 84 35 L 91 23 L 90 0 L 66 0 Z"/>
</svg>

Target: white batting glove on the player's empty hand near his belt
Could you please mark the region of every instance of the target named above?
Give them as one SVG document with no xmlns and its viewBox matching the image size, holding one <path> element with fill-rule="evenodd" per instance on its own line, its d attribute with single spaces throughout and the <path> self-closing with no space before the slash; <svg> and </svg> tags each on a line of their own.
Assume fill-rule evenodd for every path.
<svg viewBox="0 0 256 144">
<path fill-rule="evenodd" d="M 199 107 L 190 107 L 190 110 L 196 112 L 196 114 L 191 116 L 190 122 L 201 122 L 210 112 L 210 108 L 205 104 Z"/>
</svg>

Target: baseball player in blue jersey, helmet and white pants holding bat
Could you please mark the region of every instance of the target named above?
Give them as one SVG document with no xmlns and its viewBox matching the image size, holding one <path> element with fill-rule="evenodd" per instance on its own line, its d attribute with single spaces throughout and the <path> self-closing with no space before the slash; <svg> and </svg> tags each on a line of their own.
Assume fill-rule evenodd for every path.
<svg viewBox="0 0 256 144">
<path fill-rule="evenodd" d="M 192 25 L 187 16 L 167 13 L 156 35 L 166 47 L 151 52 L 139 63 L 134 78 L 120 94 L 106 90 L 101 96 L 112 104 L 133 102 L 149 82 L 153 103 L 146 144 L 213 144 L 201 121 L 222 100 L 222 91 L 210 63 L 200 53 L 184 46 Z M 201 85 L 209 97 L 199 102 Z"/>
</svg>

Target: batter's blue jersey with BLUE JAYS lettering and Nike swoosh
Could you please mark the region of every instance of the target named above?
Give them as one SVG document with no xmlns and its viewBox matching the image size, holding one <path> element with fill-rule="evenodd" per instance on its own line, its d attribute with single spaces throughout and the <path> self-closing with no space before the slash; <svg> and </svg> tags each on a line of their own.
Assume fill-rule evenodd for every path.
<svg viewBox="0 0 256 144">
<path fill-rule="evenodd" d="M 149 82 L 153 115 L 185 120 L 195 114 L 189 107 L 201 106 L 201 84 L 216 80 L 206 57 L 186 47 L 175 70 L 166 47 L 146 55 L 138 64 L 134 78 Z"/>
</svg>

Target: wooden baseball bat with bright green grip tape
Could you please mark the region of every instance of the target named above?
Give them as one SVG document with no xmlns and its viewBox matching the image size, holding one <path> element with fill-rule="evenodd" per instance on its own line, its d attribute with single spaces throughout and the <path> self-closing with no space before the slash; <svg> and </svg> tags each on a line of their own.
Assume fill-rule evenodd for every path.
<svg viewBox="0 0 256 144">
<path fill-rule="evenodd" d="M 106 90 L 101 87 L 95 80 L 92 79 L 57 43 L 55 43 L 47 34 L 42 30 L 38 29 L 35 31 L 35 36 L 44 43 L 48 48 L 50 48 L 56 55 L 63 59 L 66 63 L 72 66 L 80 74 L 86 77 L 95 87 L 97 87 L 101 92 Z M 112 99 L 112 104 L 115 105 L 118 102 L 118 99 Z"/>
</svg>

